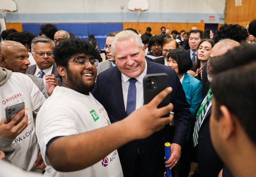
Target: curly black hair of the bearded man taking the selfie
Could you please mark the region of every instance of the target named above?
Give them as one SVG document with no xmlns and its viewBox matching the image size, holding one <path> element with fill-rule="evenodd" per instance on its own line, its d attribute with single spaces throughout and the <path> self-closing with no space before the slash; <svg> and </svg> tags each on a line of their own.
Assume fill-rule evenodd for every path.
<svg viewBox="0 0 256 177">
<path fill-rule="evenodd" d="M 100 60 L 100 53 L 89 41 L 84 41 L 79 38 L 63 39 L 59 45 L 53 49 L 54 59 L 57 66 L 68 66 L 68 61 L 75 54 L 92 55 L 95 59 Z"/>
</svg>

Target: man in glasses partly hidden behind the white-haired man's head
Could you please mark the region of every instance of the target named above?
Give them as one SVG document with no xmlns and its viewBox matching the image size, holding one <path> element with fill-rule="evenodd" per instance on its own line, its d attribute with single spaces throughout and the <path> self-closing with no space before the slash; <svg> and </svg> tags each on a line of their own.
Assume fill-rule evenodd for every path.
<svg viewBox="0 0 256 177">
<path fill-rule="evenodd" d="M 99 66 L 97 66 L 97 74 L 103 72 L 104 70 L 107 70 L 108 68 L 116 66 L 116 60 L 112 56 L 111 44 L 115 35 L 119 32 L 120 31 L 115 31 L 108 34 L 108 37 L 106 39 L 106 45 L 104 45 L 104 49 L 106 50 L 108 60 L 99 63 Z"/>
</svg>

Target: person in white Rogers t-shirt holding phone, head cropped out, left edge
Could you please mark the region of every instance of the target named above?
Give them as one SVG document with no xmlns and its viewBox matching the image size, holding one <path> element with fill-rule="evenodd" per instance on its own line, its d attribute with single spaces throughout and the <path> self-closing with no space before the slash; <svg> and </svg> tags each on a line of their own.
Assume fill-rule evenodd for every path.
<svg viewBox="0 0 256 177">
<path fill-rule="evenodd" d="M 0 98 L 0 150 L 6 153 L 6 161 L 26 171 L 42 172 L 45 166 L 40 164 L 42 156 L 39 154 L 33 115 L 45 97 L 26 74 L 12 73 L 0 67 Z M 7 123 L 5 108 L 21 101 L 25 103 L 25 110 Z M 22 121 L 15 126 L 20 118 Z"/>
</svg>

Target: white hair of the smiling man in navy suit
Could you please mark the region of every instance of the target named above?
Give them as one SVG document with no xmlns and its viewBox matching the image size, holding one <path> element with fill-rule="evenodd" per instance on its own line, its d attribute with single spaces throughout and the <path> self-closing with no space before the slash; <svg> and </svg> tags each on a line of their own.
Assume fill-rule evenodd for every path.
<svg viewBox="0 0 256 177">
<path fill-rule="evenodd" d="M 125 39 L 131 39 L 131 38 L 133 38 L 136 41 L 136 44 L 138 47 L 143 49 L 144 44 L 142 43 L 140 36 L 136 34 L 134 31 L 124 30 L 124 31 L 121 31 L 120 33 L 117 33 L 112 41 L 112 44 L 111 44 L 112 55 L 115 56 L 116 54 L 117 41 L 122 41 Z"/>
</svg>

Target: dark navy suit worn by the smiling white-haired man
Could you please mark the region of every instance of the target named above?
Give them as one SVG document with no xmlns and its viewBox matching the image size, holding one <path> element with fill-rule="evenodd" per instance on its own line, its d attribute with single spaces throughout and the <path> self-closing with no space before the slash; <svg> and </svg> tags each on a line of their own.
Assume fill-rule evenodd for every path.
<svg viewBox="0 0 256 177">
<path fill-rule="evenodd" d="M 170 102 L 174 105 L 175 134 L 173 143 L 182 145 L 186 139 L 189 127 L 189 105 L 186 101 L 181 82 L 172 68 L 147 61 L 147 74 L 167 73 L 169 85 L 173 88 Z M 113 67 L 100 73 L 92 91 L 93 96 L 104 106 L 111 123 L 127 117 L 124 107 L 121 73 L 118 67 Z M 165 171 L 164 143 L 170 141 L 170 126 L 154 133 L 145 139 L 134 140 L 118 149 L 124 177 L 134 174 L 136 158 L 139 156 L 148 176 L 163 176 Z M 140 154 L 137 155 L 137 149 Z"/>
</svg>

